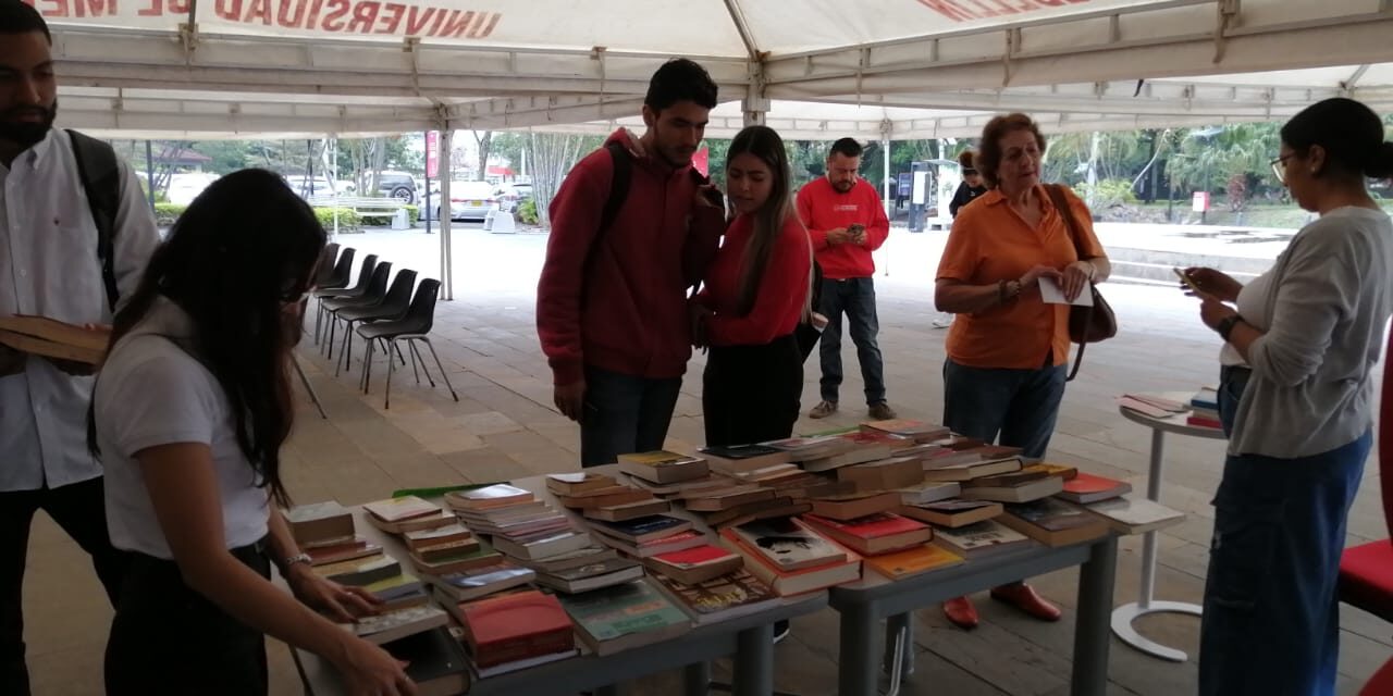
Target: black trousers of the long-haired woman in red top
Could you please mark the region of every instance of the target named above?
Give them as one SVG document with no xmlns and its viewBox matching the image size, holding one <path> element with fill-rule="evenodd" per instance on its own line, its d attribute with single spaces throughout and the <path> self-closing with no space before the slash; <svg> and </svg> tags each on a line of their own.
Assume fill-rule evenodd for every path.
<svg viewBox="0 0 1393 696">
<path fill-rule="evenodd" d="M 702 373 L 708 445 L 793 436 L 802 395 L 802 352 L 793 334 L 765 345 L 713 347 Z"/>
</svg>

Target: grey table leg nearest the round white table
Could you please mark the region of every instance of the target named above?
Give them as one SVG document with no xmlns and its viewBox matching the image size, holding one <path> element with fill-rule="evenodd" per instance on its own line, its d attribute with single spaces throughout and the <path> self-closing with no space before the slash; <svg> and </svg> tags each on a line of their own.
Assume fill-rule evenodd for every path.
<svg viewBox="0 0 1393 696">
<path fill-rule="evenodd" d="M 1074 674 L 1070 693 L 1107 693 L 1107 615 L 1113 606 L 1117 571 L 1117 537 L 1107 535 L 1094 543 L 1088 561 L 1078 571 L 1078 624 L 1074 626 Z"/>
</svg>

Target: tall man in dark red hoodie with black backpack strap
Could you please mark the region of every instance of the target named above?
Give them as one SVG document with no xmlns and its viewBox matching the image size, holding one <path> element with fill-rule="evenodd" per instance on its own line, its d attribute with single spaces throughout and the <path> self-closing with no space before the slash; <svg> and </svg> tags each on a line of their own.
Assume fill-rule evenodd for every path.
<svg viewBox="0 0 1393 696">
<path fill-rule="evenodd" d="M 687 290 L 724 231 L 723 209 L 708 199 L 716 189 L 691 164 L 715 106 L 705 68 L 667 61 L 644 97 L 644 136 L 616 131 L 552 200 L 536 333 L 556 408 L 581 423 L 582 466 L 662 450 L 667 438 L 691 358 Z M 616 180 L 621 205 L 605 224 Z"/>
</svg>

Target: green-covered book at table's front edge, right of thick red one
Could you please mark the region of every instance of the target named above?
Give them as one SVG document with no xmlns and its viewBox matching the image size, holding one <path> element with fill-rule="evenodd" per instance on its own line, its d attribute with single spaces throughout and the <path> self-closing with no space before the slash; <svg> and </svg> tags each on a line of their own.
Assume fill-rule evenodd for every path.
<svg viewBox="0 0 1393 696">
<path fill-rule="evenodd" d="M 592 653 L 607 656 L 691 631 L 691 619 L 646 580 L 625 582 L 560 597 L 575 635 Z"/>
</svg>

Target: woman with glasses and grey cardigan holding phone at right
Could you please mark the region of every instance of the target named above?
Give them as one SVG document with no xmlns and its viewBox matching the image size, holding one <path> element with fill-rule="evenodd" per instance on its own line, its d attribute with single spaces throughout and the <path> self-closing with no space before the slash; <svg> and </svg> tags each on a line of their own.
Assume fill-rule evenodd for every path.
<svg viewBox="0 0 1393 696">
<path fill-rule="evenodd" d="M 1334 692 L 1336 578 L 1393 312 L 1393 224 L 1365 189 L 1365 177 L 1393 175 L 1379 117 L 1319 102 L 1282 127 L 1273 168 L 1321 217 L 1245 287 L 1188 271 L 1205 324 L 1247 365 L 1220 381 L 1233 429 L 1213 500 L 1202 695 Z"/>
</svg>

